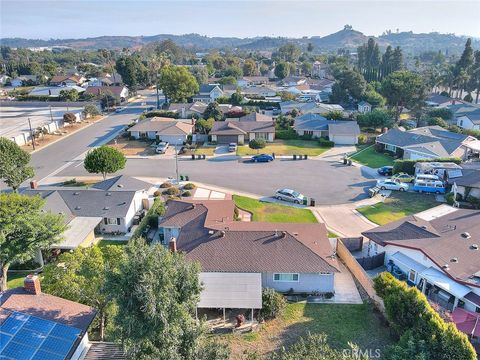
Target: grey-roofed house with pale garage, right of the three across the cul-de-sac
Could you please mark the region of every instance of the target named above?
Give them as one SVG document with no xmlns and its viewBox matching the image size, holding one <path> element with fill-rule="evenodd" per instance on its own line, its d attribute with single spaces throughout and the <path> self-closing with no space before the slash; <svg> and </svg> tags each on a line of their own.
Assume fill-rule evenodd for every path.
<svg viewBox="0 0 480 360">
<path fill-rule="evenodd" d="M 358 143 L 360 128 L 356 121 L 327 120 L 319 114 L 305 114 L 295 118 L 293 129 L 300 136 L 328 137 L 335 145 Z"/>
</svg>

